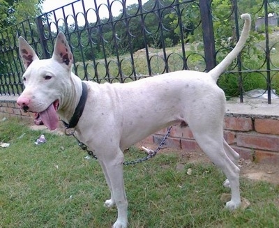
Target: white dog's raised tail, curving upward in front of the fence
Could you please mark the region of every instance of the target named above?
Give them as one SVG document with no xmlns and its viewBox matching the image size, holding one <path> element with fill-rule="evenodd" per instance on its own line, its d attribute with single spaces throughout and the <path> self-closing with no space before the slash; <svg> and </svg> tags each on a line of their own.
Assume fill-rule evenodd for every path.
<svg viewBox="0 0 279 228">
<path fill-rule="evenodd" d="M 251 26 L 251 17 L 250 14 L 245 13 L 241 15 L 241 18 L 245 20 L 243 30 L 241 32 L 241 36 L 239 38 L 239 42 L 236 43 L 236 46 L 229 52 L 229 54 L 221 61 L 215 68 L 209 71 L 209 75 L 217 82 L 219 76 L 223 71 L 229 66 L 230 63 L 236 58 L 236 56 L 241 52 L 243 49 L 246 40 L 249 36 L 250 26 Z"/>
</svg>

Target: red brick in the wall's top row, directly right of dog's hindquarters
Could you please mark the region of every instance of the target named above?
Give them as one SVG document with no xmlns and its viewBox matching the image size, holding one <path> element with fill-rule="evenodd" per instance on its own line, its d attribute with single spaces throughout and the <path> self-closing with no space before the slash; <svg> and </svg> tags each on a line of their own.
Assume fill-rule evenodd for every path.
<svg viewBox="0 0 279 228">
<path fill-rule="evenodd" d="M 247 117 L 225 116 L 224 128 L 227 130 L 249 131 L 252 130 L 252 119 Z"/>
</svg>

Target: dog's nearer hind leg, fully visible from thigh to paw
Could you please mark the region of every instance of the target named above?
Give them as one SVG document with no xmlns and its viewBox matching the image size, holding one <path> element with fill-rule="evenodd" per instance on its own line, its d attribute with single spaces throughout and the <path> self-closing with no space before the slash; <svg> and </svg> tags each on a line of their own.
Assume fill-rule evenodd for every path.
<svg viewBox="0 0 279 228">
<path fill-rule="evenodd" d="M 190 124 L 189 124 L 190 126 Z M 195 128 L 196 127 L 196 128 Z M 212 127 L 212 126 L 211 126 Z M 190 126 L 191 128 L 191 126 Z M 202 130 L 201 130 L 202 129 Z M 192 126 L 192 131 L 197 143 L 204 153 L 209 156 L 211 161 L 220 167 L 229 180 L 232 199 L 227 202 L 226 207 L 233 210 L 240 206 L 241 198 L 239 192 L 239 167 L 237 167 L 225 152 L 223 146 L 223 129 L 221 126 L 215 128 L 201 128 L 201 126 Z"/>
</svg>

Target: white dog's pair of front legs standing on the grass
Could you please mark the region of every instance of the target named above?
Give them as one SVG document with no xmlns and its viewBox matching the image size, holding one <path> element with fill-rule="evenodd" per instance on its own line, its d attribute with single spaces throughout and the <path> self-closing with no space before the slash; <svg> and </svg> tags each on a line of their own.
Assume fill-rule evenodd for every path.
<svg viewBox="0 0 279 228">
<path fill-rule="evenodd" d="M 123 153 L 119 149 L 114 158 L 102 158 L 100 165 L 103 168 L 107 185 L 111 192 L 111 199 L 105 201 L 105 206 L 116 204 L 118 216 L 113 228 L 126 228 L 128 226 L 128 202 L 123 181 Z"/>
</svg>

